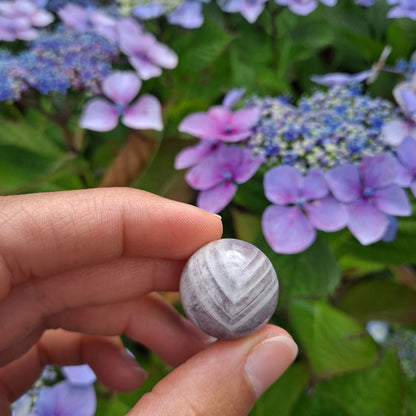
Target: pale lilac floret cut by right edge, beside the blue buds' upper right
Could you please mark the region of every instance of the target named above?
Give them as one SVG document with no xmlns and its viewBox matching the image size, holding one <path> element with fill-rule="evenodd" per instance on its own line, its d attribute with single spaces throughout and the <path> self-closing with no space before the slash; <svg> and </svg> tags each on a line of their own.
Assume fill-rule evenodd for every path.
<svg viewBox="0 0 416 416">
<path fill-rule="evenodd" d="M 416 82 L 398 84 L 393 95 L 405 118 L 396 118 L 386 123 L 382 138 L 386 143 L 397 146 L 407 136 L 416 138 Z"/>
</svg>

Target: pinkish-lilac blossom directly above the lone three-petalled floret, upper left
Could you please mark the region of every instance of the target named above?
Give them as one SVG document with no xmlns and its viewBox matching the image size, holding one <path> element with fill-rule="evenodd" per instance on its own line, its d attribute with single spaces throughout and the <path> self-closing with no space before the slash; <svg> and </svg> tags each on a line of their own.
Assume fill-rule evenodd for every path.
<svg viewBox="0 0 416 416">
<path fill-rule="evenodd" d="M 143 32 L 136 20 L 122 19 L 117 27 L 120 49 L 143 80 L 158 77 L 162 74 L 161 68 L 172 69 L 178 64 L 175 52 L 150 33 Z"/>
</svg>

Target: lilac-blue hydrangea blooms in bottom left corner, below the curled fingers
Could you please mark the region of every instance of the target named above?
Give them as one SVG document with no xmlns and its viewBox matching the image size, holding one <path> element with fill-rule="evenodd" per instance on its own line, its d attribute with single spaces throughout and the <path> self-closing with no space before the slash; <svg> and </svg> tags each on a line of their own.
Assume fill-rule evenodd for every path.
<svg viewBox="0 0 416 416">
<path fill-rule="evenodd" d="M 88 365 L 63 367 L 64 380 L 47 368 L 41 379 L 13 405 L 13 416 L 93 416 L 97 407 L 95 374 Z M 51 377 L 52 376 L 52 377 Z"/>
</svg>

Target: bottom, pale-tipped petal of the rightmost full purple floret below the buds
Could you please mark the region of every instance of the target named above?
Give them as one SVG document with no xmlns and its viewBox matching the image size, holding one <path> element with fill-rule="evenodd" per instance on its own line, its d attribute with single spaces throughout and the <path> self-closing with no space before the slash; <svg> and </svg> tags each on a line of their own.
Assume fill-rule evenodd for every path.
<svg viewBox="0 0 416 416">
<path fill-rule="evenodd" d="M 348 206 L 348 228 L 364 246 L 381 240 L 387 231 L 388 219 L 368 200 L 359 199 Z"/>
</svg>

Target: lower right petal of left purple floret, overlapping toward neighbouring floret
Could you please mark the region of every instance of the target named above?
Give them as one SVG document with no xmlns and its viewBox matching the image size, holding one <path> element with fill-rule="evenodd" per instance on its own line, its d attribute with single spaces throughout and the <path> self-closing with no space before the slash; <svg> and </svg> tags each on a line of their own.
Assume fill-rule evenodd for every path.
<svg viewBox="0 0 416 416">
<path fill-rule="evenodd" d="M 347 207 L 332 196 L 305 204 L 304 209 L 309 221 L 318 230 L 338 231 L 347 225 Z"/>
</svg>

